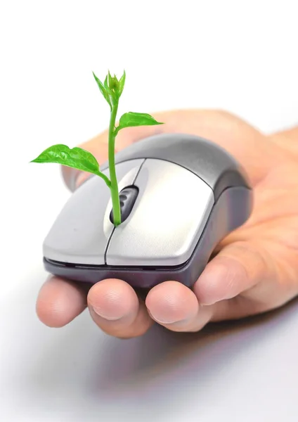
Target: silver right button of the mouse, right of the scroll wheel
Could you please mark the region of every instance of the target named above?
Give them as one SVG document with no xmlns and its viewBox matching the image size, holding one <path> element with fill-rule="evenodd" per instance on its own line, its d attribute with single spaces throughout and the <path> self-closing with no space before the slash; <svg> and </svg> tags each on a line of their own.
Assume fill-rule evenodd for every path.
<svg viewBox="0 0 298 422">
<path fill-rule="evenodd" d="M 136 203 L 116 227 L 106 253 L 108 265 L 167 267 L 193 253 L 214 204 L 205 181 L 164 160 L 145 160 L 134 185 Z"/>
</svg>

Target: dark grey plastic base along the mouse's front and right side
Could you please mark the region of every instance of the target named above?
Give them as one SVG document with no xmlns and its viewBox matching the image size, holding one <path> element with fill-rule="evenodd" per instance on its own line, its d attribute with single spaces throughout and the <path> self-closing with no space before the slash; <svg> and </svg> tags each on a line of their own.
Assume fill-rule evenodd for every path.
<svg viewBox="0 0 298 422">
<path fill-rule="evenodd" d="M 233 204 L 239 204 L 235 210 Z M 190 259 L 179 267 L 109 267 L 55 262 L 44 257 L 46 271 L 72 281 L 98 283 L 121 279 L 133 288 L 152 288 L 164 281 L 179 281 L 191 287 L 205 269 L 214 248 L 228 233 L 245 223 L 252 211 L 252 191 L 227 188 L 216 201 L 205 230 Z"/>
</svg>

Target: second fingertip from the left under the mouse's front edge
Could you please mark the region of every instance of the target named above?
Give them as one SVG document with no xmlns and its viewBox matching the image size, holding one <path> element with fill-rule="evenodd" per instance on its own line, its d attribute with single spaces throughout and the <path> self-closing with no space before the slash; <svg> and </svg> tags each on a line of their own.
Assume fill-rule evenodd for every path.
<svg viewBox="0 0 298 422">
<path fill-rule="evenodd" d="M 107 279 L 95 284 L 87 300 L 93 321 L 109 335 L 132 338 L 153 324 L 144 303 L 124 281 Z"/>
</svg>

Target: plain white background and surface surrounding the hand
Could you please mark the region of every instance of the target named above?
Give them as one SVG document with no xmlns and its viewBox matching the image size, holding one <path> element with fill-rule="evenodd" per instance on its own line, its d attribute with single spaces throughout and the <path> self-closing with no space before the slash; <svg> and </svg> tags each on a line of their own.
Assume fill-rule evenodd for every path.
<svg viewBox="0 0 298 422">
<path fill-rule="evenodd" d="M 29 162 L 53 143 L 75 146 L 107 127 L 108 106 L 92 70 L 100 78 L 108 68 L 117 75 L 126 70 L 119 113 L 224 108 L 264 132 L 297 124 L 297 9 L 295 0 L 0 2 L 1 421 L 129 421 L 145 415 L 162 421 L 166 411 L 172 421 L 196 421 L 198 414 L 204 422 L 220 417 L 239 421 L 239 414 L 229 409 L 245 407 L 245 397 L 252 390 L 256 394 L 256 388 L 259 395 L 250 405 L 257 414 L 265 413 L 259 418 L 246 412 L 241 420 L 282 420 L 292 390 L 283 388 L 280 407 L 266 414 L 264 403 L 272 409 L 277 390 L 264 383 L 280 359 L 297 362 L 297 354 L 287 355 L 287 343 L 281 354 L 272 352 L 276 342 L 284 344 L 278 340 L 283 328 L 276 328 L 270 347 L 260 335 L 250 350 L 257 368 L 252 361 L 248 365 L 243 353 L 228 360 L 215 353 L 212 361 L 209 352 L 202 352 L 208 342 L 200 340 L 192 353 L 197 357 L 201 347 L 201 366 L 187 354 L 188 363 L 183 361 L 188 374 L 190 362 L 197 379 L 204 373 L 204 383 L 199 387 L 193 380 L 194 387 L 185 381 L 187 374 L 179 378 L 176 364 L 165 371 L 157 359 L 164 347 L 178 341 L 163 331 L 123 343 L 103 335 L 86 314 L 61 330 L 37 321 L 34 302 L 46 277 L 41 243 L 70 193 L 58 166 Z M 256 342 L 257 328 L 250 330 L 247 335 Z M 245 338 L 243 333 L 218 341 L 233 354 L 233 336 Z M 273 353 L 266 353 L 266 361 L 264 347 Z M 207 371 L 214 362 L 217 378 Z M 133 388 L 139 367 L 147 375 Z M 152 373 L 157 372 L 155 381 Z M 261 378 L 253 373 L 262 373 Z M 278 379 L 287 386 L 285 373 L 291 371 L 285 368 Z M 235 390 L 224 388 L 231 374 Z M 127 395 L 117 390 L 120 381 L 129 385 Z M 177 387 L 165 399 L 167 382 Z M 254 382 L 252 390 L 245 387 Z M 179 384 L 188 399 L 179 401 Z M 235 399 L 241 388 L 243 395 Z M 153 393 L 159 389 L 161 395 Z M 297 415 L 285 421 L 297 421 Z"/>
</svg>

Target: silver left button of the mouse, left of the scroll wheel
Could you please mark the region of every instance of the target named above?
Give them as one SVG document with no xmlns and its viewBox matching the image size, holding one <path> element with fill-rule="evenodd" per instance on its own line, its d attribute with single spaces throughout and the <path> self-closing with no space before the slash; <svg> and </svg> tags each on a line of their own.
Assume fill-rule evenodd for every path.
<svg viewBox="0 0 298 422">
<path fill-rule="evenodd" d="M 116 165 L 119 188 L 134 183 L 143 161 L 129 160 Z M 108 169 L 103 173 L 109 176 Z M 108 219 L 109 206 L 110 189 L 105 181 L 100 177 L 85 181 L 67 200 L 44 240 L 46 260 L 104 265 L 105 250 L 114 228 Z"/>
</svg>

